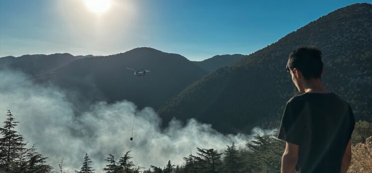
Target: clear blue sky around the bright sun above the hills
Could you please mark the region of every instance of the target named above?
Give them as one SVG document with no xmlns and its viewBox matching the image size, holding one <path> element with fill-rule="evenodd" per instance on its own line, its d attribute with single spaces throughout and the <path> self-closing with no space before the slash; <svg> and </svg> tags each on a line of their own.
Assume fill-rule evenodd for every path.
<svg viewBox="0 0 372 173">
<path fill-rule="evenodd" d="M 0 57 L 68 52 L 110 55 L 136 47 L 193 61 L 250 54 L 361 0 L 0 0 Z"/>
</svg>

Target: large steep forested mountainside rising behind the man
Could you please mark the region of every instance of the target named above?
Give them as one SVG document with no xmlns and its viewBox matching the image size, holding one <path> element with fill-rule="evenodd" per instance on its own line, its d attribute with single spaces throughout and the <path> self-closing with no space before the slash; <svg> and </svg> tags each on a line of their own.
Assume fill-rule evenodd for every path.
<svg viewBox="0 0 372 173">
<path fill-rule="evenodd" d="M 372 121 L 372 4 L 337 9 L 291 32 L 229 67 L 187 86 L 159 110 L 163 121 L 196 118 L 221 132 L 249 132 L 280 121 L 296 94 L 285 69 L 301 46 L 323 53 L 326 86 L 350 102 L 356 119 Z M 278 127 L 278 126 L 276 126 Z"/>
</svg>

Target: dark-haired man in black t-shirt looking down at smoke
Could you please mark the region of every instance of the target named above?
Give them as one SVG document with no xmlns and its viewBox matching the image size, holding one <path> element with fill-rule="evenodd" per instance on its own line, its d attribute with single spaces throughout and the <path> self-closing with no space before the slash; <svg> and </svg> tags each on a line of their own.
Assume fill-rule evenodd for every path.
<svg viewBox="0 0 372 173">
<path fill-rule="evenodd" d="M 286 68 L 301 94 L 288 100 L 281 119 L 281 173 L 346 173 L 355 119 L 349 103 L 323 86 L 321 52 L 298 48 Z"/>
</svg>

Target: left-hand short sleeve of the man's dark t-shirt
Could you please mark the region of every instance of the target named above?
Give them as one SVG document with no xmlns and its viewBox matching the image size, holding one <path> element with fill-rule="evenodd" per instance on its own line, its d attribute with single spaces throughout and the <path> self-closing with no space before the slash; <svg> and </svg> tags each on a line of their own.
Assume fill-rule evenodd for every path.
<svg viewBox="0 0 372 173">
<path fill-rule="evenodd" d="M 293 111 L 291 103 L 285 105 L 281 119 L 278 138 L 292 144 L 300 145 L 302 140 L 303 122 L 298 113 Z"/>
</svg>

